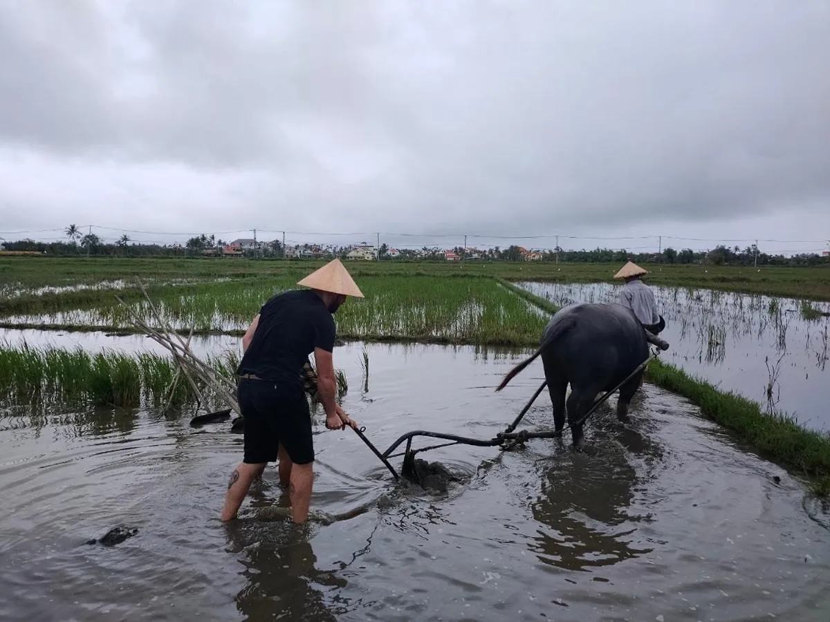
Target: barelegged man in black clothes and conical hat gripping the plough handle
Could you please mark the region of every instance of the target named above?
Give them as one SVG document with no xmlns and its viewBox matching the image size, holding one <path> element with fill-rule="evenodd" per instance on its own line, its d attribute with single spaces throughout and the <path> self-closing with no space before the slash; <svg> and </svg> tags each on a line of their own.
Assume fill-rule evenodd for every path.
<svg viewBox="0 0 830 622">
<path fill-rule="evenodd" d="M 276 294 L 262 305 L 242 338 L 238 385 L 245 421 L 244 457 L 227 484 L 222 521 L 236 518 L 253 480 L 279 458 L 280 483 L 289 486 L 291 518 L 305 522 L 314 480 L 311 417 L 300 372 L 311 352 L 317 367 L 317 394 L 329 430 L 354 427 L 336 401 L 334 318 L 346 296 L 363 298 L 339 260 L 300 280 L 311 289 Z"/>
</svg>

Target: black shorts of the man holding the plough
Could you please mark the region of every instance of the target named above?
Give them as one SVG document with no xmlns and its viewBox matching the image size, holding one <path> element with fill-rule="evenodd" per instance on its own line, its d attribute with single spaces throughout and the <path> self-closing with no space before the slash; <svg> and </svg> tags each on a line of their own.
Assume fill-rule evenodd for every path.
<svg viewBox="0 0 830 622">
<path fill-rule="evenodd" d="M 314 462 L 311 414 L 301 389 L 281 389 L 273 382 L 241 379 L 239 409 L 245 421 L 245 464 L 276 462 L 280 445 L 294 464 Z"/>
</svg>

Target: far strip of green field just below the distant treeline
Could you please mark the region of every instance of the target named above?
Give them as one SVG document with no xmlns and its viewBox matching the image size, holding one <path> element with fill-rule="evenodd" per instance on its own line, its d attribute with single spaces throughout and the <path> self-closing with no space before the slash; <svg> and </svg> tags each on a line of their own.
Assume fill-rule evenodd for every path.
<svg viewBox="0 0 830 622">
<path fill-rule="evenodd" d="M 129 280 L 139 276 L 145 283 L 173 282 L 177 279 L 271 278 L 294 275 L 296 279 L 323 264 L 323 260 L 203 260 L 185 258 L 74 258 L 0 257 L 0 288 L 27 291 L 44 286 L 66 287 L 102 281 Z M 551 283 L 613 283 L 618 263 L 532 262 L 454 262 L 454 261 L 365 261 L 349 262 L 356 278 L 369 276 L 488 276 L 505 279 L 531 279 Z M 830 270 L 825 266 L 767 266 L 762 272 L 747 272 L 740 266 L 661 265 L 648 276 L 652 284 L 738 291 L 747 294 L 773 294 L 817 300 L 830 300 Z M 2 297 L 0 297 L 2 300 Z M 2 304 L 0 304 L 2 306 Z"/>
</svg>

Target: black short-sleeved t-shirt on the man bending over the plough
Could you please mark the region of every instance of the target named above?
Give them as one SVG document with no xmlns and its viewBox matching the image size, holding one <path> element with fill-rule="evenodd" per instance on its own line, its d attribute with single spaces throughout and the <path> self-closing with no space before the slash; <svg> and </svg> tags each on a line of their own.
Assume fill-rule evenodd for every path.
<svg viewBox="0 0 830 622">
<path fill-rule="evenodd" d="M 309 354 L 315 347 L 332 352 L 334 333 L 334 318 L 314 291 L 292 289 L 276 294 L 262 305 L 237 372 L 301 390 L 300 372 Z"/>
</svg>

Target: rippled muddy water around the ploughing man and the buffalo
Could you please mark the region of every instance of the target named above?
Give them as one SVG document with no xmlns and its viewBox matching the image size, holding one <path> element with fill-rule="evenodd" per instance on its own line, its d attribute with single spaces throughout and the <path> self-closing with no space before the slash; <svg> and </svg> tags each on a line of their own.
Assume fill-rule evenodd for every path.
<svg viewBox="0 0 830 622">
<path fill-rule="evenodd" d="M 413 429 L 491 437 L 541 380 L 534 365 L 496 394 L 513 357 L 370 345 L 364 392 L 361 347 L 334 362 L 381 450 Z M 549 427 L 545 397 L 528 428 Z M 394 485 L 356 435 L 315 425 L 312 508 L 355 515 L 305 529 L 267 511 L 285 503 L 271 468 L 237 522 L 217 520 L 242 451 L 226 425 L 3 412 L 2 620 L 827 620 L 827 517 L 652 386 L 632 424 L 598 413 L 585 454 L 422 454 L 468 478 L 444 496 Z M 119 524 L 139 532 L 85 544 Z"/>
</svg>

